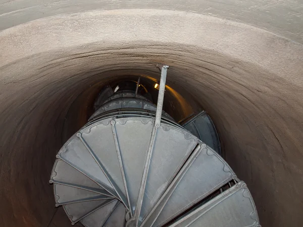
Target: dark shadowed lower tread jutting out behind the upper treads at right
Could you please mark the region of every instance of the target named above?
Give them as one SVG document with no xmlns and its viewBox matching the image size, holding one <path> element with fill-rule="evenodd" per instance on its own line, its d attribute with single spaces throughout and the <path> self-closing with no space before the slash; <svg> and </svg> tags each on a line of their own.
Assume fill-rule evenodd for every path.
<svg viewBox="0 0 303 227">
<path fill-rule="evenodd" d="M 201 111 L 182 126 L 221 155 L 216 127 L 206 111 Z"/>
</svg>

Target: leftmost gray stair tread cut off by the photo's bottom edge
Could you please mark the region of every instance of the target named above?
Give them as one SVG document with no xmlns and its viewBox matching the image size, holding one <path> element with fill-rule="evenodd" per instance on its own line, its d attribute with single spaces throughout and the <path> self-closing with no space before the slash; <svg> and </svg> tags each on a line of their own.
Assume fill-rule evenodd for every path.
<svg viewBox="0 0 303 227">
<path fill-rule="evenodd" d="M 104 223 L 108 220 L 108 218 L 111 216 L 111 214 L 117 208 L 118 205 L 118 200 L 111 201 L 110 203 L 99 207 L 94 212 L 84 217 L 82 220 L 80 220 L 80 222 L 85 227 L 104 226 Z"/>
</svg>

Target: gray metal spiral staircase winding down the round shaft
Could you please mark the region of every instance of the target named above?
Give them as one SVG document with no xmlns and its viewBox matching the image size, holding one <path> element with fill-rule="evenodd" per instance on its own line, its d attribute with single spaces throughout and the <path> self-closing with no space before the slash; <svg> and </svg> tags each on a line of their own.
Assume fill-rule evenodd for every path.
<svg viewBox="0 0 303 227">
<path fill-rule="evenodd" d="M 163 111 L 160 68 L 157 105 L 137 89 L 115 92 L 58 152 L 56 207 L 85 227 L 260 226 L 245 183 L 199 133 L 206 120 L 180 125 Z"/>
</svg>

